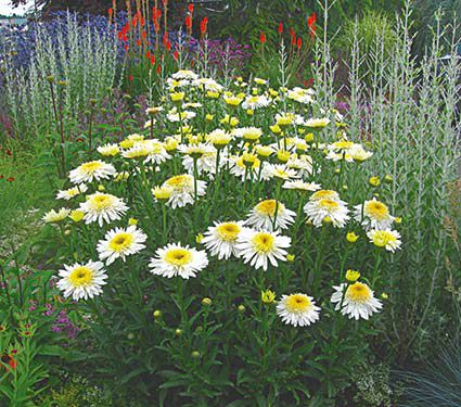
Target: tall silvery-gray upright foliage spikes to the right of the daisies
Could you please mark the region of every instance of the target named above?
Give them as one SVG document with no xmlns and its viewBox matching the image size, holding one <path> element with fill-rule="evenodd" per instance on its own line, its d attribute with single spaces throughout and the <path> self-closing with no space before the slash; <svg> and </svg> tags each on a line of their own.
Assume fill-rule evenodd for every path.
<svg viewBox="0 0 461 407">
<path fill-rule="evenodd" d="M 457 270 L 450 253 L 459 247 L 449 195 L 459 188 L 461 61 L 440 62 L 443 55 L 457 55 L 459 26 L 456 18 L 443 26 L 441 15 L 436 14 L 432 43 L 417 61 L 411 52 L 411 4 L 407 1 L 397 16 L 390 58 L 385 56 L 385 35 L 380 31 L 369 54 L 360 53 L 356 22 L 345 88 L 337 88 L 337 65 L 326 34 L 317 40 L 313 61 L 318 98 L 328 106 L 340 92 L 347 94 L 348 135 L 369 141 L 375 155 L 372 164 L 364 165 L 394 179 L 390 196 L 383 200 L 402 217 L 398 229 L 405 250 L 383 266 L 392 296 L 390 310 L 385 313 L 386 327 L 392 329 L 385 335 L 401 358 L 427 341 L 424 328 L 436 298 L 446 293 L 450 272 Z M 328 14 L 332 2 L 322 0 L 319 5 Z"/>
</svg>

